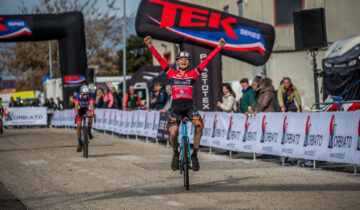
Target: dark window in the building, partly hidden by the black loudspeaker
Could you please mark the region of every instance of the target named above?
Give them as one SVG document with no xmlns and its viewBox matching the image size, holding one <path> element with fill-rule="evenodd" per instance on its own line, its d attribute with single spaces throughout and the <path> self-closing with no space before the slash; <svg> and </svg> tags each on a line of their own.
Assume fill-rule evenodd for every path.
<svg viewBox="0 0 360 210">
<path fill-rule="evenodd" d="M 293 24 L 294 11 L 304 8 L 304 0 L 274 0 L 275 25 Z"/>
</svg>

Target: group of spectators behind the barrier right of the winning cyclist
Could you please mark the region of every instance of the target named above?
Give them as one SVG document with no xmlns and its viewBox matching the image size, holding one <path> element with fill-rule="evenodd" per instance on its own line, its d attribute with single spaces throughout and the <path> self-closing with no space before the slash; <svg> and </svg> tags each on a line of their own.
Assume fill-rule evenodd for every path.
<svg viewBox="0 0 360 210">
<path fill-rule="evenodd" d="M 284 77 L 277 90 L 270 78 L 256 76 L 249 84 L 247 78 L 240 80 L 242 97 L 236 94 L 230 84 L 221 85 L 222 102 L 217 102 L 224 112 L 238 112 L 246 115 L 259 112 L 302 112 L 300 93 L 289 77 Z"/>
</svg>

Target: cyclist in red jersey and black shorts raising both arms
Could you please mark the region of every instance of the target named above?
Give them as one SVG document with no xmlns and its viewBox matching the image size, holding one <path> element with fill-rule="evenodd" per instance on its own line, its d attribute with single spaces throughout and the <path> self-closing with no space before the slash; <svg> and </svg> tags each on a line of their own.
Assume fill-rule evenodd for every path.
<svg viewBox="0 0 360 210">
<path fill-rule="evenodd" d="M 153 53 L 155 58 L 161 65 L 161 68 L 165 71 L 166 75 L 170 79 L 170 85 L 172 88 L 172 104 L 170 111 L 170 142 L 173 148 L 173 159 L 171 162 L 171 169 L 179 169 L 179 151 L 178 151 L 178 135 L 179 135 L 179 125 L 180 116 L 186 116 L 192 118 L 193 125 L 195 127 L 194 135 L 194 149 L 191 155 L 193 162 L 194 171 L 200 169 L 199 160 L 197 158 L 197 152 L 199 150 L 200 139 L 202 135 L 202 120 L 199 112 L 194 107 L 192 89 L 195 84 L 196 79 L 204 70 L 205 66 L 209 63 L 214 56 L 220 52 L 221 48 L 225 45 L 225 40 L 221 38 L 219 40 L 219 45 L 216 47 L 201 63 L 193 70 L 189 70 L 189 64 L 191 56 L 186 51 L 181 51 L 176 56 L 176 64 L 179 69 L 176 71 L 169 67 L 167 62 L 161 57 L 161 55 L 156 51 L 154 46 L 151 43 L 152 38 L 147 36 L 144 38 L 145 44 L 149 47 L 150 51 Z"/>
</svg>

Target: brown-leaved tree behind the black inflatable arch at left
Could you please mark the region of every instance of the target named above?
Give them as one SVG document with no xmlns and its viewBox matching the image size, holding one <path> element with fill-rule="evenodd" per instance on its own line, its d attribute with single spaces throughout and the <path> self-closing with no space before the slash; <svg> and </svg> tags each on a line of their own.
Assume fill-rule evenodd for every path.
<svg viewBox="0 0 360 210">
<path fill-rule="evenodd" d="M 85 19 L 88 65 L 98 65 L 99 75 L 114 75 L 118 73 L 116 47 L 122 40 L 121 19 L 115 16 L 120 8 L 115 6 L 116 0 L 106 0 L 107 10 L 99 12 L 98 2 L 38 0 L 31 11 L 22 2 L 19 11 L 20 14 L 81 11 Z M 55 40 L 51 43 L 53 72 L 60 76 L 58 43 Z M 17 77 L 17 90 L 42 90 L 42 77 L 49 76 L 48 46 L 48 41 L 1 43 L 0 71 Z"/>
</svg>

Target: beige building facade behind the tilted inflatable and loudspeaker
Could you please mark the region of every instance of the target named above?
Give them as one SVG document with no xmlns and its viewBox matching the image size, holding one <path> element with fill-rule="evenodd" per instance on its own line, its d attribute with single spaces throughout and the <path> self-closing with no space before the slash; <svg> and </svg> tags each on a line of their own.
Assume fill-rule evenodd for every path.
<svg viewBox="0 0 360 210">
<path fill-rule="evenodd" d="M 250 80 L 255 76 L 266 76 L 273 80 L 277 89 L 283 77 L 290 77 L 298 88 L 303 106 L 310 108 L 315 103 L 314 74 L 312 57 L 308 51 L 295 51 L 294 27 L 292 12 L 301 9 L 324 8 L 328 46 L 346 36 L 360 34 L 358 18 L 358 0 L 182 0 L 184 2 L 225 11 L 247 19 L 268 23 L 275 28 L 273 53 L 264 66 L 253 66 L 248 63 L 222 56 L 222 75 L 224 82 Z M 169 42 L 154 41 L 161 54 L 171 53 L 174 61 L 176 45 Z M 327 48 L 317 55 L 318 68 Z M 154 65 L 158 65 L 156 59 Z M 320 96 L 321 78 L 319 81 Z M 322 97 L 320 97 L 320 101 Z"/>
</svg>

